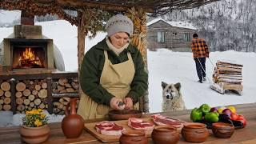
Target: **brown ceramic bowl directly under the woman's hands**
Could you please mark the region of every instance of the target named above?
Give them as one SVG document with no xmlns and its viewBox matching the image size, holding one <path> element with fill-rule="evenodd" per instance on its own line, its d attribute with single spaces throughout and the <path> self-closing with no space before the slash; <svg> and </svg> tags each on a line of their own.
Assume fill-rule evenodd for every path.
<svg viewBox="0 0 256 144">
<path fill-rule="evenodd" d="M 142 112 L 140 110 L 110 110 L 109 118 L 113 121 L 126 120 L 129 118 L 141 118 Z"/>
</svg>

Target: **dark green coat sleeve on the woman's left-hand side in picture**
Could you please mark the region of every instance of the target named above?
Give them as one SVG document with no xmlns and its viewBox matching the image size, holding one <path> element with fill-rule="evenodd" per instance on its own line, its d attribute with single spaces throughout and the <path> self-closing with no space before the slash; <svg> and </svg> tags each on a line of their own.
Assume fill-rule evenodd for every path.
<svg viewBox="0 0 256 144">
<path fill-rule="evenodd" d="M 104 57 L 101 57 L 104 58 Z M 80 70 L 80 85 L 82 91 L 94 100 L 94 102 L 110 105 L 110 94 L 100 85 L 101 74 L 98 73 L 101 59 L 95 50 L 89 50 L 84 56 Z M 104 65 L 104 62 L 103 62 Z"/>
</svg>

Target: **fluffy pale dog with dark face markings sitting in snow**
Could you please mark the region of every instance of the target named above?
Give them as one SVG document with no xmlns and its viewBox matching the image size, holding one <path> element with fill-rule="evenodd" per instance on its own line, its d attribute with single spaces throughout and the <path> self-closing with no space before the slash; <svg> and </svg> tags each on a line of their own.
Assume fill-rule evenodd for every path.
<svg viewBox="0 0 256 144">
<path fill-rule="evenodd" d="M 167 84 L 162 82 L 162 111 L 176 110 L 186 110 L 181 94 L 181 83 Z"/>
</svg>

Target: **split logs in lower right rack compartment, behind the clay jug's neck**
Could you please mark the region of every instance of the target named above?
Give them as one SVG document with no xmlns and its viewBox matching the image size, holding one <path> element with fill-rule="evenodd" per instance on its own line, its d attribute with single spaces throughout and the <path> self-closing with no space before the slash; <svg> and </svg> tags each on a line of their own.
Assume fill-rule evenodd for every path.
<svg viewBox="0 0 256 144">
<path fill-rule="evenodd" d="M 65 114 L 66 106 L 70 102 L 69 97 L 57 98 L 54 102 L 54 114 Z M 76 109 L 78 109 L 79 100 L 77 100 Z"/>
</svg>

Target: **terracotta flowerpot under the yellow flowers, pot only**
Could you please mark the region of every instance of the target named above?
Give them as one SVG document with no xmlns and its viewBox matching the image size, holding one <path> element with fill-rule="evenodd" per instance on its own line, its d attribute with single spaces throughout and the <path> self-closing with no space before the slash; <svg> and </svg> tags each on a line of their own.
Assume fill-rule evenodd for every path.
<svg viewBox="0 0 256 144">
<path fill-rule="evenodd" d="M 26 143 L 42 143 L 49 138 L 50 127 L 48 125 L 39 126 L 39 127 L 28 127 L 21 126 L 20 134 L 22 142 Z"/>
</svg>

